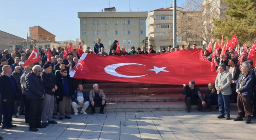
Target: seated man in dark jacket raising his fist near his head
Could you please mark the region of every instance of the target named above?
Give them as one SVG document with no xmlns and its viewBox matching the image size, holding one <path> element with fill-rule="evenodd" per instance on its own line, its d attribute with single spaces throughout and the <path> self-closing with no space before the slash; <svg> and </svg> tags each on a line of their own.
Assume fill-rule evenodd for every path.
<svg viewBox="0 0 256 140">
<path fill-rule="evenodd" d="M 186 95 L 185 103 L 187 105 L 187 112 L 190 112 L 192 104 L 198 105 L 198 111 L 203 111 L 203 106 L 206 106 L 206 102 L 200 89 L 195 86 L 195 81 L 190 81 L 188 86 L 183 84 L 182 94 Z"/>
</svg>

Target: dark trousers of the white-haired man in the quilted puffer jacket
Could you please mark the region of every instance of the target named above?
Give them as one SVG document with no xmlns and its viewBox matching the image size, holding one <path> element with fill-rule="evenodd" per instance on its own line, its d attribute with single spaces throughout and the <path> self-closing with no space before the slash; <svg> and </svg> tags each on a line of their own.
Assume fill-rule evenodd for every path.
<svg viewBox="0 0 256 140">
<path fill-rule="evenodd" d="M 30 128 L 36 128 L 41 124 L 43 99 L 27 99 L 27 101 L 29 108 L 28 124 Z"/>
</svg>

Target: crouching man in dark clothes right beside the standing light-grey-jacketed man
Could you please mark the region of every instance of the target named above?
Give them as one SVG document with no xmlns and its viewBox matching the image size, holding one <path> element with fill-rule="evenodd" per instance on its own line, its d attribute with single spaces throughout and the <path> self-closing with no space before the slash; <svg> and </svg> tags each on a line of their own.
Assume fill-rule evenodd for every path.
<svg viewBox="0 0 256 140">
<path fill-rule="evenodd" d="M 218 104 L 217 90 L 214 88 L 213 83 L 208 84 L 208 88 L 205 89 L 205 100 L 206 100 L 206 112 L 210 112 L 212 105 Z M 218 108 L 218 106 L 217 106 Z"/>
</svg>

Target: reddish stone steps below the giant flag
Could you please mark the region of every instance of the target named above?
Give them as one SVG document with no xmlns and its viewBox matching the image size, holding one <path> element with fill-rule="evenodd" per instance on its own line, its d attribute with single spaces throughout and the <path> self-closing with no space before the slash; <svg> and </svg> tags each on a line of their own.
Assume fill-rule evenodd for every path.
<svg viewBox="0 0 256 140">
<path fill-rule="evenodd" d="M 84 90 L 89 93 L 95 83 L 106 94 L 106 112 L 186 110 L 185 96 L 182 95 L 182 85 L 84 80 Z M 199 85 L 203 95 L 207 86 Z M 215 107 L 213 106 L 213 108 Z M 231 104 L 231 107 L 234 110 L 237 109 L 236 104 Z M 197 105 L 192 105 L 191 108 L 196 110 Z M 99 108 L 96 108 L 96 111 L 98 111 L 97 109 L 99 110 Z M 90 112 L 90 108 L 87 109 L 87 112 Z"/>
</svg>

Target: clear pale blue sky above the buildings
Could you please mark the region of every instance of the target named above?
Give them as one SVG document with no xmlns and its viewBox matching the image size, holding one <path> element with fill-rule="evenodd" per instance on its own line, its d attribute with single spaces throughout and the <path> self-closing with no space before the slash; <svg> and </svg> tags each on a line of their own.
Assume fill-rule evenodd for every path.
<svg viewBox="0 0 256 140">
<path fill-rule="evenodd" d="M 173 0 L 130 0 L 131 10 L 151 11 L 171 6 Z M 177 0 L 184 7 L 186 0 Z M 56 40 L 80 38 L 77 12 L 100 12 L 108 0 L 0 0 L 0 30 L 26 38 L 29 27 L 41 26 Z M 110 0 L 110 7 L 129 11 L 129 0 Z M 147 25 L 147 24 L 146 24 Z"/>
</svg>

